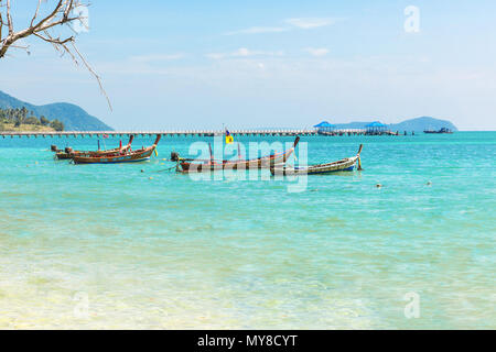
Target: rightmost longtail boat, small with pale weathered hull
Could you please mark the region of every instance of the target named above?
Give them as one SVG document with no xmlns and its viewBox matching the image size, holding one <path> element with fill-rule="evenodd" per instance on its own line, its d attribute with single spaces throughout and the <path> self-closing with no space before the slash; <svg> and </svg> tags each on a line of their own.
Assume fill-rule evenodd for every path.
<svg viewBox="0 0 496 352">
<path fill-rule="evenodd" d="M 362 169 L 360 153 L 363 144 L 355 156 L 346 157 L 341 161 L 327 164 L 310 165 L 305 167 L 288 167 L 285 165 L 274 165 L 270 167 L 272 175 L 317 175 L 317 174 L 331 174 L 336 172 L 352 172 L 355 168 L 355 164 L 358 162 L 358 169 Z"/>
</svg>

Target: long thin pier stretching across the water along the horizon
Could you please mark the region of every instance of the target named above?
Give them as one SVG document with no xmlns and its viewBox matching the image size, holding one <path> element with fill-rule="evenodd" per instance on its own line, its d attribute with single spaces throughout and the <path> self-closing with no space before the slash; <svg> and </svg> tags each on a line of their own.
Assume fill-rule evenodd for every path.
<svg viewBox="0 0 496 352">
<path fill-rule="evenodd" d="M 319 133 L 316 130 L 229 130 L 234 136 L 295 136 L 295 135 L 366 135 L 366 130 L 335 130 L 328 133 Z M 223 135 L 223 131 L 215 130 L 183 130 L 183 131 L 61 131 L 61 132 L 0 132 L 0 136 L 6 138 L 54 138 L 54 136 L 73 136 L 73 138 L 109 138 L 120 136 L 152 136 L 162 134 L 162 136 L 215 136 Z M 386 131 L 380 134 L 397 135 L 396 132 Z M 402 134 L 402 133 L 400 133 Z"/>
</svg>

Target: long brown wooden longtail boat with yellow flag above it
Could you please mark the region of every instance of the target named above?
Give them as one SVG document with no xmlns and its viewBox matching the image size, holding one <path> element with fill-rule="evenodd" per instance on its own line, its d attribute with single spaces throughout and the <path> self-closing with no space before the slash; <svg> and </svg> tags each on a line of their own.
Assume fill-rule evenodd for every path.
<svg viewBox="0 0 496 352">
<path fill-rule="evenodd" d="M 239 161 L 222 161 L 216 162 L 214 160 L 205 161 L 204 163 L 190 163 L 191 160 L 177 158 L 177 172 L 181 173 L 201 173 L 201 172 L 213 172 L 220 169 L 258 169 L 258 168 L 269 168 L 271 165 L 277 165 L 280 163 L 285 163 L 285 161 L 291 156 L 300 142 L 300 136 L 294 140 L 293 146 L 283 152 L 277 153 L 268 156 L 262 156 L 252 160 L 239 160 Z"/>
</svg>

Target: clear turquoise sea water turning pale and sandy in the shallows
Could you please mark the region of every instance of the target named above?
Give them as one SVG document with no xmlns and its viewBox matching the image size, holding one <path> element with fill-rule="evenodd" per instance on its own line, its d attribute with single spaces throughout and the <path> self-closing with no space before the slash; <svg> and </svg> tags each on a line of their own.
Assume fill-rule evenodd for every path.
<svg viewBox="0 0 496 352">
<path fill-rule="evenodd" d="M 496 328 L 495 132 L 302 138 L 364 170 L 300 193 L 158 172 L 201 140 L 72 165 L 50 144 L 95 139 L 0 139 L 0 328 Z"/>
</svg>

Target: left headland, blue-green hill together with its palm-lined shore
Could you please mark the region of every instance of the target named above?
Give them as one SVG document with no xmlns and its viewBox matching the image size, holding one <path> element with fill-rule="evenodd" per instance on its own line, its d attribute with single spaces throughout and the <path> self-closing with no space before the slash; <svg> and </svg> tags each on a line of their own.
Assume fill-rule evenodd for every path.
<svg viewBox="0 0 496 352">
<path fill-rule="evenodd" d="M 45 106 L 35 106 L 17 98 L 9 96 L 0 90 L 0 109 L 4 111 L 3 120 L 0 120 L 0 130 L 4 131 L 60 131 L 61 124 L 64 131 L 112 131 L 114 129 L 105 124 L 97 118 L 88 114 L 78 106 L 67 102 L 55 102 Z M 22 110 L 22 118 L 18 113 L 13 114 L 13 120 L 6 120 L 9 114 L 12 118 L 12 112 L 6 111 Z M 25 116 L 24 112 L 26 111 Z M 25 117 L 25 119 L 24 119 Z M 34 121 L 35 118 L 37 122 Z M 41 119 L 44 118 L 43 122 Z M 0 117 L 1 119 L 1 117 Z M 21 119 L 21 120 L 20 120 Z M 30 119 L 29 122 L 25 121 Z M 48 120 L 46 123 L 45 120 Z M 2 122 L 3 121 L 3 122 Z M 54 122 L 56 121 L 56 122 Z M 58 123 L 57 123 L 58 122 Z M 18 124 L 17 127 L 14 127 Z M 51 127 L 52 124 L 52 127 Z M 56 129 L 55 129 L 56 128 Z M 57 130 L 58 129 L 58 130 Z"/>
</svg>

